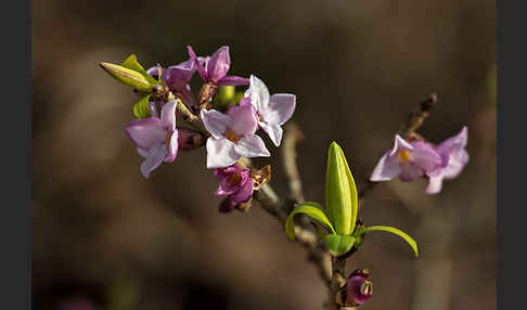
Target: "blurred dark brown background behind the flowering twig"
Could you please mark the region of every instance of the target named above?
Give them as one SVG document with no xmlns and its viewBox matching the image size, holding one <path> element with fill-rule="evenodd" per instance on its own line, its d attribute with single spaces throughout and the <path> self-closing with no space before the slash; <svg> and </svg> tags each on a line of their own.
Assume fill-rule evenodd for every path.
<svg viewBox="0 0 527 310">
<path fill-rule="evenodd" d="M 137 53 L 172 65 L 187 44 L 204 55 L 228 44 L 232 74 L 297 95 L 310 201 L 323 201 L 331 141 L 360 186 L 437 92 L 421 133 L 440 142 L 467 125 L 471 160 L 436 196 L 424 180 L 376 186 L 361 217 L 406 230 L 422 256 L 371 234 L 348 270 L 372 271 L 364 309 L 496 308 L 496 1 L 35 0 L 34 309 L 322 308 L 316 269 L 274 219 L 257 205 L 217 211 L 204 150 L 140 175 L 124 132 L 136 96 L 98 63 Z M 268 146 L 261 163 L 286 195 L 281 150 Z"/>
</svg>

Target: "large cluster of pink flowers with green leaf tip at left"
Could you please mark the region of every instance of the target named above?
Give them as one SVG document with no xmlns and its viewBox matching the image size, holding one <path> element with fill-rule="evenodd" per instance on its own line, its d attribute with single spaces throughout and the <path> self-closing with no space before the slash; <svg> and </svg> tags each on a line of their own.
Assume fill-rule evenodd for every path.
<svg viewBox="0 0 527 310">
<path fill-rule="evenodd" d="M 101 66 L 132 87 L 141 98 L 133 106 L 137 119 L 130 121 L 125 131 L 145 158 L 140 166 L 142 175 L 149 178 L 162 163 L 175 162 L 178 150 L 190 151 L 206 144 L 206 167 L 215 169 L 215 177 L 220 181 L 216 195 L 227 196 L 222 210 L 230 210 L 247 202 L 254 191 L 249 170 L 236 163 L 242 157 L 270 156 L 257 130 L 261 128 L 279 146 L 281 126 L 292 117 L 296 96 L 271 95 L 255 75 L 249 78 L 228 76 L 229 47 L 221 47 L 204 57 L 197 56 L 191 47 L 188 52 L 189 60 L 167 68 L 157 65 L 144 69 L 134 55 L 121 65 L 101 63 Z M 197 95 L 189 85 L 195 72 L 203 80 Z M 233 92 L 227 106 L 215 106 L 218 88 L 236 86 L 248 88 L 237 94 Z M 234 98 L 239 100 L 232 103 Z M 178 116 L 185 126 L 179 126 Z M 187 124 L 189 118 L 195 121 Z"/>
</svg>

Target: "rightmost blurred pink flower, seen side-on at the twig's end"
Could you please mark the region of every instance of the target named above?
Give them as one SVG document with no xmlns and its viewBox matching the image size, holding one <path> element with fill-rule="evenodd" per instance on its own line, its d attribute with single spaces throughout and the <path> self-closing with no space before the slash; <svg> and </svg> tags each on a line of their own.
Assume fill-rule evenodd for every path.
<svg viewBox="0 0 527 310">
<path fill-rule="evenodd" d="M 436 147 L 441 156 L 441 164 L 432 171 L 427 171 L 429 178 L 427 194 L 436 194 L 441 191 L 444 179 L 453 179 L 461 173 L 461 170 L 468 163 L 468 153 L 465 150 L 468 140 L 468 130 L 465 127 L 454 137 L 445 140 Z"/>
</svg>

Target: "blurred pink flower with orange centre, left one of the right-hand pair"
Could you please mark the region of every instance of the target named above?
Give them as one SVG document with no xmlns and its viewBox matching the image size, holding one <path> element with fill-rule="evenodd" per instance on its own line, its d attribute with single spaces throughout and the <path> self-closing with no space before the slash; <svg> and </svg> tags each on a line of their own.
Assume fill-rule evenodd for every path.
<svg viewBox="0 0 527 310">
<path fill-rule="evenodd" d="M 396 134 L 395 145 L 386 152 L 373 169 L 370 181 L 387 181 L 399 177 L 409 182 L 424 177 L 441 164 L 441 156 L 424 141 L 407 142 Z"/>
</svg>

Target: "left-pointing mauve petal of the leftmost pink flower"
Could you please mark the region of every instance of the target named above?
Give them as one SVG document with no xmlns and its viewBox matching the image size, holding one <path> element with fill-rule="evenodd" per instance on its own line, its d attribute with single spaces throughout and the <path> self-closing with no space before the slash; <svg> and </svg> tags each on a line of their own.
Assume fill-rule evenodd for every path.
<svg viewBox="0 0 527 310">
<path fill-rule="evenodd" d="M 134 119 L 126 126 L 125 131 L 136 146 L 144 150 L 163 143 L 167 134 L 163 122 L 157 117 Z"/>
</svg>

